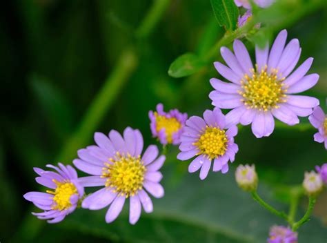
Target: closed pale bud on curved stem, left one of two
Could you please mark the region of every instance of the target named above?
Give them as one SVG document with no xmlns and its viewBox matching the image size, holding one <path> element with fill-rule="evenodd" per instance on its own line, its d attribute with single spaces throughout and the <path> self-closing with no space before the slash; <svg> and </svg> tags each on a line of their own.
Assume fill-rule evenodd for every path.
<svg viewBox="0 0 327 243">
<path fill-rule="evenodd" d="M 239 187 L 244 191 L 255 191 L 258 186 L 258 175 L 255 172 L 255 165 L 239 165 L 235 172 L 235 179 Z"/>
</svg>

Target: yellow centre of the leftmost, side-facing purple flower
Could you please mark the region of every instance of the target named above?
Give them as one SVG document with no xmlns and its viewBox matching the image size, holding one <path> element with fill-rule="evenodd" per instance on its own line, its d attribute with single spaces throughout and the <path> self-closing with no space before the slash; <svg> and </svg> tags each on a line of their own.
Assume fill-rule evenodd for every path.
<svg viewBox="0 0 327 243">
<path fill-rule="evenodd" d="M 55 191 L 46 191 L 54 195 L 54 205 L 51 207 L 54 210 L 63 211 L 72 206 L 70 197 L 77 193 L 77 188 L 72 182 L 57 182 L 53 179 L 53 182 L 57 185 Z"/>
</svg>

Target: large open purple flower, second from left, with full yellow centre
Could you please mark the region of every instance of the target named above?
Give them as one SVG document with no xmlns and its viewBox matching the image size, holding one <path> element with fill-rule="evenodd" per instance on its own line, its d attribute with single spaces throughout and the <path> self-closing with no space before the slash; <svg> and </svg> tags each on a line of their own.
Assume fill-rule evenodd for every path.
<svg viewBox="0 0 327 243">
<path fill-rule="evenodd" d="M 74 164 L 79 170 L 90 174 L 79 178 L 83 186 L 103 186 L 83 200 L 82 207 L 99 210 L 109 206 L 106 222 L 113 222 L 130 198 L 130 224 L 135 224 L 141 215 L 141 206 L 146 213 L 153 210 L 148 193 L 163 197 L 164 188 L 159 184 L 162 175 L 158 171 L 166 157 L 158 157 L 157 146 L 150 145 L 141 156 L 143 137 L 139 130 L 126 128 L 121 136 L 111 130 L 109 136 L 95 133 L 97 146 L 78 150 L 80 159 Z M 145 188 L 148 193 L 143 189 Z"/>
</svg>

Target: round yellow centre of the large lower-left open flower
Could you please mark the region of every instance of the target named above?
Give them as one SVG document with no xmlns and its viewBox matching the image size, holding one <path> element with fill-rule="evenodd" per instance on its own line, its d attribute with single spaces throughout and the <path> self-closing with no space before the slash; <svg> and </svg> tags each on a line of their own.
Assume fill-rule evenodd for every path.
<svg viewBox="0 0 327 243">
<path fill-rule="evenodd" d="M 146 166 L 143 165 L 141 157 L 124 156 L 117 153 L 115 159 L 110 158 L 110 163 L 105 163 L 101 177 L 108 178 L 106 186 L 114 188 L 115 193 L 130 197 L 137 194 L 143 186 Z"/>
</svg>

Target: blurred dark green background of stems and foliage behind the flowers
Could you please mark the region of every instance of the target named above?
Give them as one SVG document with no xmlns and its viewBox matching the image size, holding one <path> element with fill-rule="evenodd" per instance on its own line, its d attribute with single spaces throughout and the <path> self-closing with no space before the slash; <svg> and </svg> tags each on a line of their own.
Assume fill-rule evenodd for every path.
<svg viewBox="0 0 327 243">
<path fill-rule="evenodd" d="M 284 16 L 267 23 L 270 33 L 287 28 L 288 40 L 300 40 L 300 61 L 315 58 L 310 72 L 320 79 L 308 95 L 326 110 L 326 1 L 285 2 Z M 269 227 L 284 223 L 237 188 L 235 167 L 201 182 L 187 173 L 188 162 L 177 161 L 177 148 L 170 148 L 163 168 L 165 197 L 155 199 L 154 213 L 142 213 L 135 226 L 128 224 L 128 205 L 113 224 L 106 224 L 105 211 L 83 209 L 56 225 L 34 219 L 30 211 L 38 209 L 22 197 L 40 189 L 34 166 L 70 164 L 77 148 L 93 144 L 95 131 L 132 126 L 146 144 L 157 143 L 148 111 L 159 102 L 189 115 L 212 108 L 213 60 L 185 78 L 170 77 L 168 68 L 185 52 L 206 55 L 224 29 L 209 0 L 12 0 L 0 11 L 0 242 L 265 242 Z M 244 41 L 253 50 L 251 38 Z M 214 59 L 220 58 L 217 50 Z M 288 210 L 290 186 L 327 162 L 314 133 L 308 119 L 294 127 L 277 124 L 263 139 L 244 127 L 234 166 L 254 163 L 261 195 Z M 300 200 L 297 217 L 306 203 Z M 299 242 L 326 243 L 326 205 L 324 193 Z"/>
</svg>

